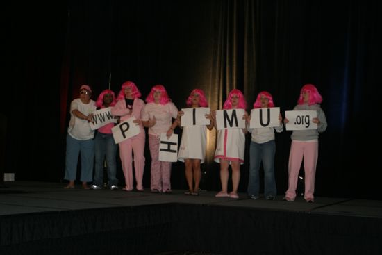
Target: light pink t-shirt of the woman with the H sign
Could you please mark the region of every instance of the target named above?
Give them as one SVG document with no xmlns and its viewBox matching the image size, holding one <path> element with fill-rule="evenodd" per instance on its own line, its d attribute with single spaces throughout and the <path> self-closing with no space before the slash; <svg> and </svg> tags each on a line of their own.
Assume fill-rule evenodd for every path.
<svg viewBox="0 0 382 255">
<path fill-rule="evenodd" d="M 178 108 L 174 103 L 169 102 L 165 105 L 148 103 L 143 108 L 142 120 L 147 121 L 155 116 L 156 124 L 149 128 L 149 135 L 160 135 L 166 133 L 172 125 L 172 118 L 178 116 Z"/>
</svg>

